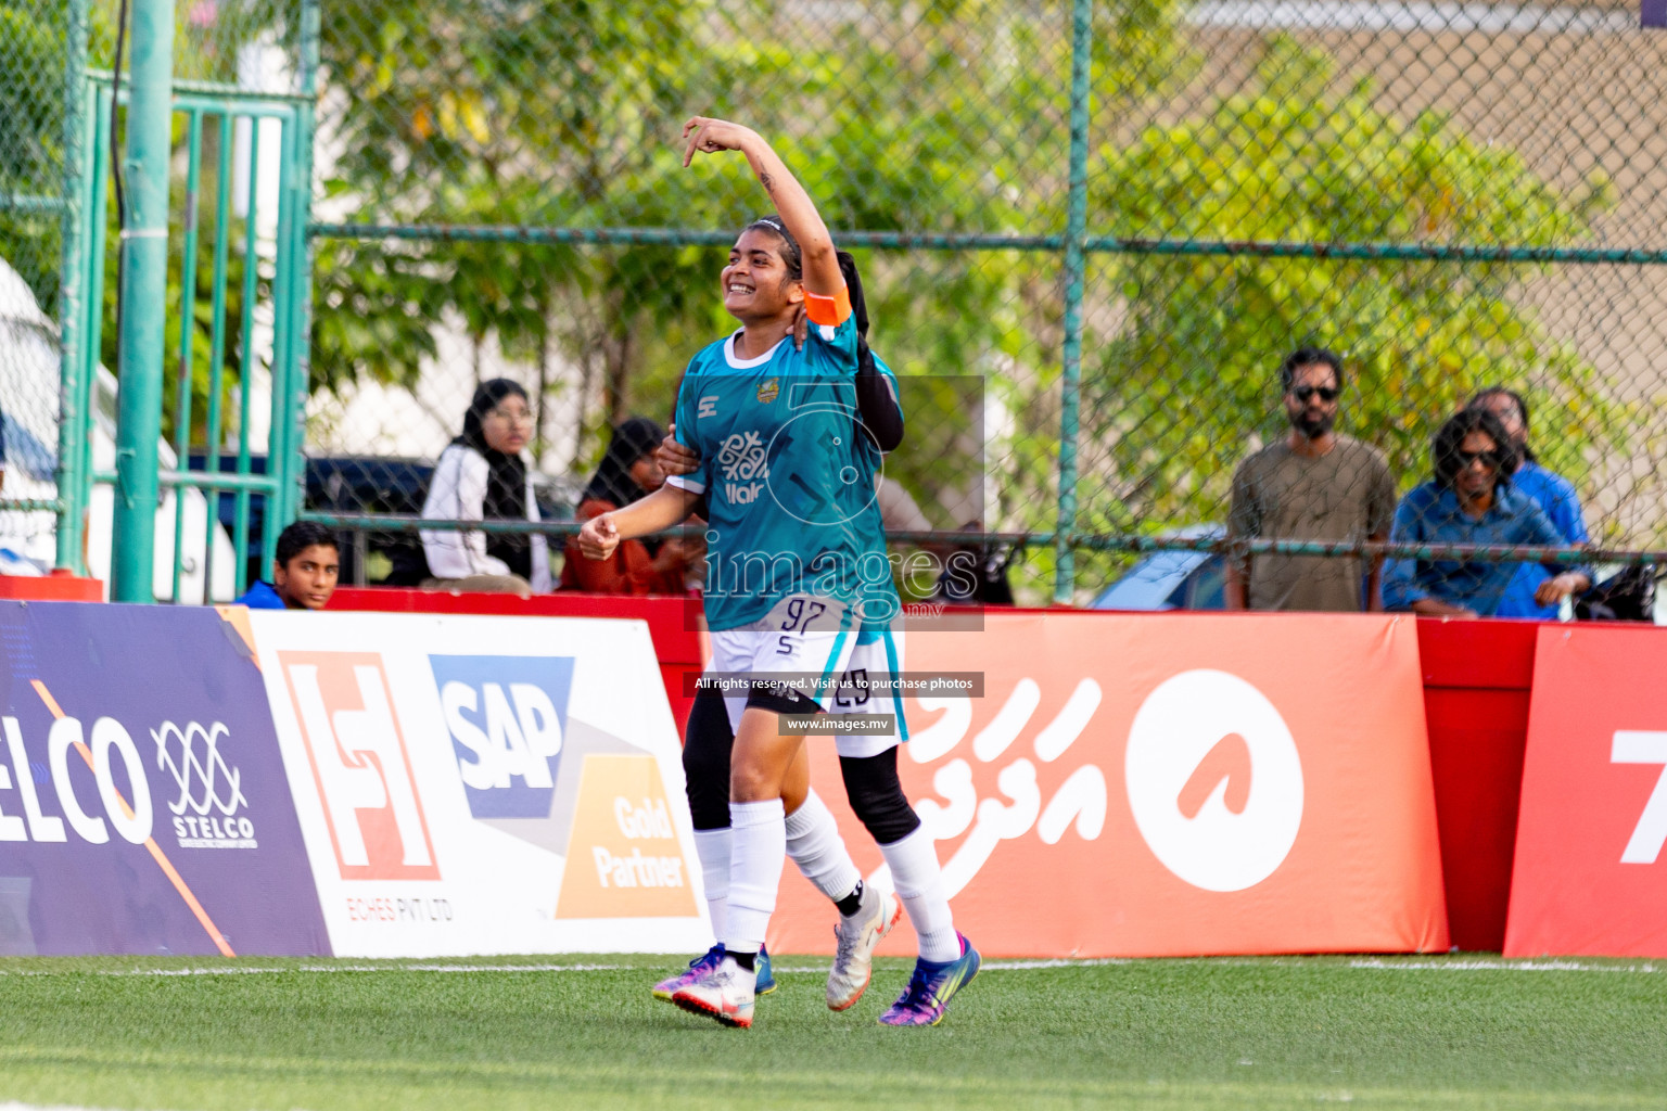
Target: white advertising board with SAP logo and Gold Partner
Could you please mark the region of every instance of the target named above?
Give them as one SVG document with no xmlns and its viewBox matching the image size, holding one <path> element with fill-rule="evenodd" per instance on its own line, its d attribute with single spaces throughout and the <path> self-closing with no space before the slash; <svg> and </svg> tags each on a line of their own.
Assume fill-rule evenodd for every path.
<svg viewBox="0 0 1667 1111">
<path fill-rule="evenodd" d="M 337 954 L 708 944 L 643 623 L 248 620 Z"/>
</svg>

